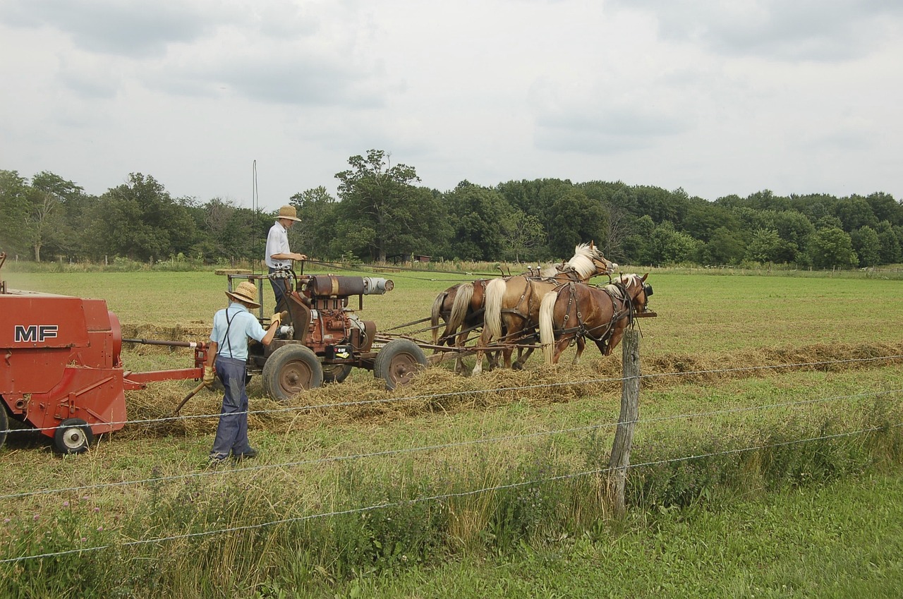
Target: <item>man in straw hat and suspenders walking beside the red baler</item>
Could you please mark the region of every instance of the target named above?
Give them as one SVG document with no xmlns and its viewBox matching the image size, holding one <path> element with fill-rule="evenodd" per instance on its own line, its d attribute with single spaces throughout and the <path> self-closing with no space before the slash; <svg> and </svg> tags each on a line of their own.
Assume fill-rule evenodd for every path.
<svg viewBox="0 0 903 599">
<path fill-rule="evenodd" d="M 222 462 L 230 454 L 236 460 L 256 457 L 257 450 L 247 441 L 247 340 L 269 345 L 282 321 L 280 314 L 273 314 L 269 328 L 264 331 L 249 311 L 260 307 L 256 300 L 257 287 L 250 281 L 242 281 L 234 292 L 227 291 L 226 295 L 232 303 L 213 315 L 204 365 L 204 384 L 212 388 L 219 376 L 226 390 L 210 463 Z"/>
</svg>

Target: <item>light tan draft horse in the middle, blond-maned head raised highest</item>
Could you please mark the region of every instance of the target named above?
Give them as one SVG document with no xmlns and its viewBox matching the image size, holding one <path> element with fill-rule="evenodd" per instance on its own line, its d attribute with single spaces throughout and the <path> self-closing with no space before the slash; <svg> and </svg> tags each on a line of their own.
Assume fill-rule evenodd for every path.
<svg viewBox="0 0 903 599">
<path fill-rule="evenodd" d="M 554 290 L 556 285 L 571 281 L 586 282 L 593 276 L 608 275 L 617 265 L 602 256 L 596 246 L 583 243 L 574 248 L 573 257 L 563 265 L 556 267 L 555 276 L 531 278 L 529 276 L 512 276 L 508 279 L 494 279 L 486 286 L 486 313 L 483 331 L 477 344 L 477 364 L 473 374 L 483 371 L 482 348 L 488 347 L 493 339 L 504 345 L 501 353 L 506 368 L 523 368 L 524 362 L 533 353 L 534 348 L 517 348 L 517 361 L 511 363 L 511 353 L 515 344 L 523 344 L 531 336 L 535 336 L 539 323 L 539 304 L 545 294 Z M 492 363 L 489 363 L 492 368 Z"/>
</svg>

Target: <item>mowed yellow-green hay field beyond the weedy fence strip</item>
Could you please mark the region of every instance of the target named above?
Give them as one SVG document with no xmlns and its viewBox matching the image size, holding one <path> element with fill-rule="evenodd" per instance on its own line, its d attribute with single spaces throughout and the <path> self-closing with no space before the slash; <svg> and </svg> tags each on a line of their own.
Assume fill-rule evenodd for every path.
<svg viewBox="0 0 903 599">
<path fill-rule="evenodd" d="M 14 288 L 106 299 L 126 337 L 206 341 L 212 314 L 227 302 L 225 277 L 209 272 L 4 276 Z M 395 289 L 386 295 L 364 296 L 359 315 L 375 321 L 380 331 L 428 316 L 442 289 L 468 280 L 433 272 L 376 276 L 392 278 Z M 763 445 L 763 439 L 772 434 L 769 431 L 776 430 L 791 435 L 787 437 L 790 447 L 796 446 L 796 440 L 830 435 L 852 435 L 852 443 L 865 445 L 859 433 L 871 426 L 870 417 L 879 406 L 898 416 L 897 407 L 882 402 L 887 399 L 898 406 L 903 388 L 900 281 L 656 271 L 648 283 L 655 289 L 649 307 L 658 316 L 638 321 L 645 378 L 634 439 L 635 463 L 710 453 L 714 451 L 710 443 L 722 450 Z M 269 289 L 265 289 L 265 300 L 272 302 Z M 357 298 L 350 305 L 357 306 Z M 265 305 L 265 314 L 270 312 L 272 304 Z M 415 336 L 426 339 L 428 333 Z M 183 408 L 186 418 L 129 424 L 102 438 L 88 454 L 61 458 L 51 453 L 50 444 L 40 436 L 11 435 L 0 450 L 0 463 L 7 473 L 14 473 L 0 487 L 5 501 L 0 511 L 14 521 L 35 516 L 39 518 L 34 521 L 51 516 L 61 521 L 62 502 L 67 502 L 68 510 L 81 501 L 86 508 L 98 508 L 90 515 L 92 528 L 82 526 L 90 533 L 85 534 L 85 543 L 99 547 L 140 541 L 149 553 L 198 549 L 185 545 L 187 541 L 179 535 L 201 531 L 206 545 L 200 552 L 219 555 L 225 551 L 228 559 L 215 566 L 204 562 L 209 575 L 196 572 L 175 582 L 176 575 L 167 571 L 168 584 L 177 583 L 182 596 L 231 596 L 221 589 L 210 594 L 198 590 L 202 586 L 198 580 L 222 575 L 229 588 L 259 593 L 267 581 L 282 575 L 250 567 L 260 564 L 248 564 L 251 558 L 238 556 L 240 547 L 223 540 L 231 538 L 230 533 L 217 531 L 248 523 L 262 523 L 263 530 L 270 530 L 276 519 L 347 509 L 340 497 L 349 478 L 366 482 L 400 477 L 435 482 L 445 493 L 450 486 L 455 492 L 468 493 L 508 484 L 510 473 L 524 469 L 526 456 L 535 461 L 535 455 L 542 454 L 549 462 L 531 463 L 525 476 L 547 476 L 542 474 L 546 468 L 570 476 L 599 463 L 604 466 L 604 455 L 590 463 L 588 456 L 596 450 L 588 446 L 597 443 L 601 453 L 610 449 L 614 433 L 610 425 L 619 414 L 620 348 L 604 358 L 589 345 L 576 366 L 570 364 L 571 352 L 573 348 L 557 367 L 546 367 L 536 353 L 525 370 L 496 370 L 479 377 L 456 375 L 446 362 L 396 391 L 386 391 L 368 371 L 355 370 L 346 382 L 314 389 L 287 404 L 261 397 L 259 381 L 252 380 L 250 437 L 261 455 L 250 465 L 238 464 L 226 472 L 204 468 L 219 411 L 219 396 L 207 390 Z M 140 345 L 126 346 L 123 352 L 126 370 L 184 368 L 191 366 L 191 358 L 191 351 Z M 472 367 L 472 358 L 467 364 Z M 162 382 L 127 392 L 130 420 L 168 416 L 194 384 Z M 894 451 L 889 450 L 891 457 Z M 766 465 L 744 464 L 744 468 L 750 479 L 744 492 L 755 495 L 763 486 L 757 473 Z M 838 473 L 855 469 L 852 463 L 835 468 Z M 805 472 L 799 474 L 801 483 L 812 475 Z M 450 480 L 460 485 L 455 487 Z M 687 501 L 674 493 L 670 499 L 650 500 L 656 493 L 655 477 L 648 480 L 637 491 L 645 495 L 634 495 L 630 501 L 652 503 L 656 510 L 666 510 L 669 501 L 679 505 Z M 210 506 L 225 501 L 223 492 L 236 488 L 253 501 L 237 501 L 228 513 L 218 512 L 217 518 L 199 522 L 175 507 L 191 505 L 191 510 L 206 513 Z M 431 494 L 438 491 L 405 495 L 405 500 L 421 501 Z M 472 499 L 454 504 L 452 538 L 456 540 L 445 548 L 452 555 L 472 550 L 489 534 L 484 514 L 489 508 L 477 499 L 481 496 L 468 495 Z M 398 498 L 361 493 L 358 499 L 357 507 L 370 513 L 369 508 L 376 510 Z M 694 501 L 699 499 L 690 500 Z M 462 506 L 465 509 L 459 509 Z M 158 520 L 144 530 L 122 524 L 146 524 L 146 513 L 153 511 L 178 522 Z M 470 519 L 461 516 L 465 512 Z M 185 521 L 173 518 L 173 513 Z M 72 538 L 61 538 L 57 544 L 21 543 L 14 549 L 0 538 L 4 551 L 0 558 L 10 557 L 15 550 L 19 554 L 14 556 L 67 550 L 71 542 Z M 279 546 L 266 551 L 284 549 L 288 550 Z M 308 548 L 292 546 L 290 550 Z M 176 566 L 180 571 L 195 567 L 190 557 L 171 559 L 173 571 L 179 569 Z M 397 563 L 392 559 L 386 557 Z M 768 558 L 762 559 L 761 567 L 767 566 Z M 363 576 L 363 571 L 336 574 L 334 565 L 319 566 L 329 574 L 310 575 L 317 585 L 342 585 Z M 27 572 L 24 567 L 22 572 Z M 706 577 L 694 572 L 686 576 L 696 579 L 695 584 Z M 684 585 L 684 591 L 695 588 L 693 581 L 686 584 L 690 586 Z M 322 588 L 317 585 L 313 586 Z M 638 596 L 660 596 L 653 587 L 638 588 L 643 589 Z M 312 591 L 311 596 L 317 594 Z M 441 588 L 418 596 L 442 596 Z"/>
</svg>

